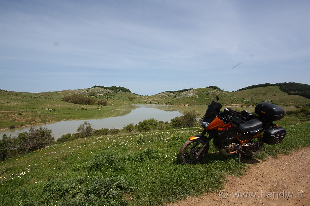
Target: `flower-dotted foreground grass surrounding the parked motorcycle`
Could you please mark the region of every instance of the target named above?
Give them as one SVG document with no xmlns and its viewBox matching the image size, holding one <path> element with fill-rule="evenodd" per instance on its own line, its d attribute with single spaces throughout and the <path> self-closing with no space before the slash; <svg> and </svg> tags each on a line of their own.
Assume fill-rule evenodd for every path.
<svg viewBox="0 0 310 206">
<path fill-rule="evenodd" d="M 310 121 L 285 116 L 288 134 L 255 157 L 310 146 Z M 76 139 L 0 162 L 0 205 L 162 205 L 223 188 L 248 165 L 210 146 L 197 165 L 181 165 L 179 148 L 201 128 Z M 242 160 L 246 159 L 245 157 Z"/>
</svg>

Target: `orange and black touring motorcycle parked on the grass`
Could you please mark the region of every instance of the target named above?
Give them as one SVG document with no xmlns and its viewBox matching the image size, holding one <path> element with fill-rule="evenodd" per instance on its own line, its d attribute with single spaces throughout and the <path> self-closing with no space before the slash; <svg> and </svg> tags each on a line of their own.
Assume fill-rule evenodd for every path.
<svg viewBox="0 0 310 206">
<path fill-rule="evenodd" d="M 200 135 L 191 136 L 180 148 L 179 160 L 184 164 L 197 164 L 209 151 L 210 140 L 223 155 L 239 155 L 246 157 L 257 155 L 264 143 L 279 144 L 286 136 L 283 127 L 274 124 L 286 114 L 281 107 L 271 103 L 259 103 L 255 106 L 255 114 L 246 110 L 237 112 L 230 108 L 220 111 L 222 105 L 219 97 L 217 103 L 212 101 L 201 119 L 204 128 Z M 262 135 L 263 134 L 263 135 Z"/>
</svg>

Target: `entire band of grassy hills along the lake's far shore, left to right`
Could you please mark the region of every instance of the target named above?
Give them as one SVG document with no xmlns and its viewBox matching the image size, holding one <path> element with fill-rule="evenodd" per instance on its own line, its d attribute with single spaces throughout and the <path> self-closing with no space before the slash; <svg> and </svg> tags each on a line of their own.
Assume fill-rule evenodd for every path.
<svg viewBox="0 0 310 206">
<path fill-rule="evenodd" d="M 130 91 L 130 90 L 129 90 Z M 64 96 L 74 94 L 91 98 L 107 99 L 106 106 L 78 105 L 61 101 Z M 0 129 L 21 127 L 60 120 L 105 118 L 114 116 L 122 105 L 170 104 L 208 105 L 219 96 L 223 106 L 256 105 L 271 100 L 277 105 L 300 106 L 310 103 L 306 97 L 288 95 L 278 86 L 251 88 L 228 92 L 214 88 L 196 88 L 185 92 L 164 92 L 152 96 L 140 96 L 131 92 L 114 92 L 107 88 L 86 88 L 56 92 L 24 93 L 0 90 Z"/>
</svg>

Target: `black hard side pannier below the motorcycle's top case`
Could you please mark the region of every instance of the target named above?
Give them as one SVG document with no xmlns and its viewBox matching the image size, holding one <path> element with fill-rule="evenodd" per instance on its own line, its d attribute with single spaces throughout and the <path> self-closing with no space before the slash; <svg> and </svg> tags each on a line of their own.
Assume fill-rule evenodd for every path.
<svg viewBox="0 0 310 206">
<path fill-rule="evenodd" d="M 268 128 L 264 131 L 263 142 L 266 144 L 278 144 L 282 142 L 286 135 L 286 130 L 283 127 Z"/>
</svg>

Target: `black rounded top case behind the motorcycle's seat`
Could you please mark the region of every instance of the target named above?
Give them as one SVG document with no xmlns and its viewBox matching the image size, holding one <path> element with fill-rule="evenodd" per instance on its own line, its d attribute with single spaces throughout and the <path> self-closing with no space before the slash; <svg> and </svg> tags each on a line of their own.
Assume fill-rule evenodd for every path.
<svg viewBox="0 0 310 206">
<path fill-rule="evenodd" d="M 255 113 L 269 121 L 280 120 L 285 115 L 285 110 L 270 103 L 259 103 L 255 106 Z"/>
</svg>

